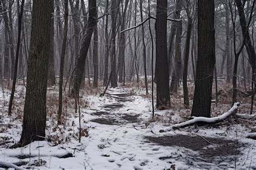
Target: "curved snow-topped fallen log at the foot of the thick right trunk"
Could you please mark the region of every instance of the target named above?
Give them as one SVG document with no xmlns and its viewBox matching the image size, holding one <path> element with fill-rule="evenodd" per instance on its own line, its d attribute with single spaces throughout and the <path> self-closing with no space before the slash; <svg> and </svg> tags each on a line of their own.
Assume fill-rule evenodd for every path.
<svg viewBox="0 0 256 170">
<path fill-rule="evenodd" d="M 183 123 L 172 125 L 171 127 L 166 128 L 165 130 L 160 130 L 159 132 L 160 133 L 167 132 L 167 131 L 171 131 L 172 129 L 177 130 L 178 128 L 184 128 L 184 127 L 187 127 L 187 126 L 192 126 L 192 125 L 195 125 L 197 123 L 204 123 L 204 124 L 210 124 L 210 125 L 219 123 L 220 121 L 229 117 L 231 114 L 234 114 L 237 111 L 239 105 L 240 105 L 240 103 L 234 103 L 233 107 L 229 111 L 219 115 L 218 117 L 214 117 L 214 118 L 192 117 L 193 119 L 191 119 L 191 120 L 185 121 Z"/>
</svg>

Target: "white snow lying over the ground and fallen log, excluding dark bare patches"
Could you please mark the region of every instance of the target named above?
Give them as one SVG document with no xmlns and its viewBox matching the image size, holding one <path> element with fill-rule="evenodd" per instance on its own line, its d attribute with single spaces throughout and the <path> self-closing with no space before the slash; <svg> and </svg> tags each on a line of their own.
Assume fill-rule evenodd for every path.
<svg viewBox="0 0 256 170">
<path fill-rule="evenodd" d="M 179 146 L 161 146 L 147 141 L 145 137 L 164 137 L 177 134 L 191 135 L 191 133 L 185 131 L 155 133 L 166 126 L 161 122 L 150 122 L 152 110 L 150 98 L 138 94 L 122 97 L 120 94 L 130 94 L 130 90 L 125 88 L 110 89 L 104 97 L 86 95 L 81 99 L 82 128 L 88 130 L 89 136 L 83 136 L 80 143 L 77 136 L 79 125 L 78 113 L 69 108 L 65 128 L 57 126 L 56 121 L 53 121 L 56 113 L 53 113 L 52 117 L 48 116 L 46 134 L 51 136 L 51 142 L 35 141 L 30 145 L 16 149 L 7 147 L 12 144 L 0 145 L 0 161 L 6 164 L 21 161 L 35 163 L 35 161 L 42 159 L 46 163 L 41 167 L 31 164 L 21 166 L 22 168 L 34 167 L 40 169 L 167 169 L 171 165 L 176 165 L 177 169 L 198 169 L 202 166 L 218 169 L 220 165 L 215 165 L 214 162 L 199 161 L 191 165 L 193 160 L 188 157 L 188 154 L 200 157 L 197 151 Z M 1 95 L 0 99 L 2 100 Z M 8 100 L 8 98 L 9 96 L 6 95 L 5 100 Z M 0 102 L 2 103 L 3 101 Z M 114 105 L 114 108 L 111 108 L 110 105 Z M 195 119 L 200 121 L 219 120 L 220 118 L 227 117 L 237 107 L 238 103 L 230 111 L 210 120 L 194 118 L 191 121 L 195 121 Z M 4 133 L 0 133 L 0 143 L 4 139 L 17 142 L 22 131 L 22 120 L 7 117 L 6 113 L 7 111 L 3 113 L 1 118 L 2 124 L 14 124 L 17 127 L 4 127 Z M 173 115 L 172 121 L 181 120 L 177 111 L 155 112 L 156 115 L 166 115 L 169 113 Z M 127 118 L 134 118 L 136 115 L 137 119 L 134 118 L 134 121 L 126 120 L 124 115 Z M 114 125 L 100 124 L 94 121 L 98 118 L 115 119 L 116 122 L 114 122 Z M 3 127 L 1 126 L 1 128 Z M 255 141 L 246 139 L 248 133 L 245 132 L 245 127 L 236 125 L 210 130 L 202 128 L 193 133 L 203 137 L 225 139 L 235 139 L 239 136 L 239 139 L 250 147 L 242 150 L 243 154 L 238 159 L 237 168 L 248 169 L 249 167 L 256 167 Z M 59 142 L 58 145 L 55 143 L 55 138 Z M 71 154 L 74 157 L 60 158 L 67 154 Z M 29 155 L 30 158 L 21 159 L 21 157 L 18 157 L 19 155 Z M 169 158 L 160 159 L 164 157 Z M 223 162 L 221 166 L 233 168 L 234 162 Z"/>
</svg>

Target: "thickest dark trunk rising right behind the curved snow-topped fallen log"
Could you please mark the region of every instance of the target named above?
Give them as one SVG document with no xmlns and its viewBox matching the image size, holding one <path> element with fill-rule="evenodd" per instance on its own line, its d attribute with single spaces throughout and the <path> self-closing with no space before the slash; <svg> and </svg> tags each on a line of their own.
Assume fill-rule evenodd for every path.
<svg viewBox="0 0 256 170">
<path fill-rule="evenodd" d="M 198 58 L 192 116 L 211 117 L 215 66 L 214 0 L 198 0 Z"/>
</svg>

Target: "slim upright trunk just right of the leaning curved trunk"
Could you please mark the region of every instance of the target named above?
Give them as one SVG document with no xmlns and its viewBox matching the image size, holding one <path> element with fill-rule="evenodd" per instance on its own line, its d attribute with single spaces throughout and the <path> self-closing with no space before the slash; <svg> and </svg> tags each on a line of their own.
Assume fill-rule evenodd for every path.
<svg viewBox="0 0 256 170">
<path fill-rule="evenodd" d="M 98 87 L 98 28 L 97 23 L 93 32 L 93 87 Z"/>
</svg>

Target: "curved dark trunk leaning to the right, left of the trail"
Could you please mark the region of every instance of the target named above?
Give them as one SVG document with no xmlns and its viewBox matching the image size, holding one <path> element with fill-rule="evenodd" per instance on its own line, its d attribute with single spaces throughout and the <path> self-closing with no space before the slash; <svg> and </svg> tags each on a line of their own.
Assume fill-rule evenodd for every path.
<svg viewBox="0 0 256 170">
<path fill-rule="evenodd" d="M 89 0 L 89 18 L 87 21 L 85 36 L 82 40 L 82 44 L 79 50 L 79 57 L 77 58 L 77 65 L 75 69 L 75 75 L 73 78 L 73 86 L 71 89 L 71 96 L 77 98 L 79 94 L 80 85 L 83 78 L 84 73 L 84 65 L 87 56 L 87 52 L 89 50 L 89 46 L 91 43 L 91 37 L 93 30 L 95 29 L 97 22 L 97 7 L 96 0 Z"/>
</svg>

